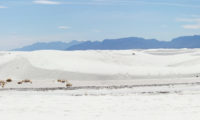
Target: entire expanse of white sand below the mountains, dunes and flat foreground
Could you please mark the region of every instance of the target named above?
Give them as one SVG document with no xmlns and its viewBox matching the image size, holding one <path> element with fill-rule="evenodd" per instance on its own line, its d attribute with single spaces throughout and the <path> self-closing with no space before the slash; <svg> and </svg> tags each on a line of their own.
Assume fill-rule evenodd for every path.
<svg viewBox="0 0 200 120">
<path fill-rule="evenodd" d="M 0 88 L 0 117 L 199 120 L 199 71 L 200 49 L 4 51 L 0 80 L 13 81 Z"/>
</svg>

